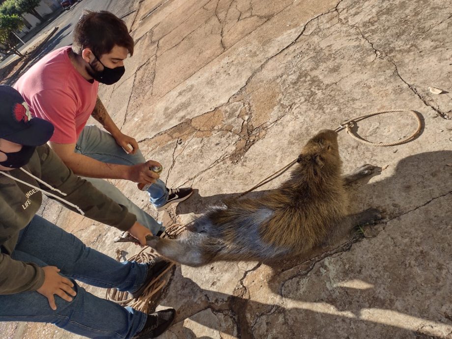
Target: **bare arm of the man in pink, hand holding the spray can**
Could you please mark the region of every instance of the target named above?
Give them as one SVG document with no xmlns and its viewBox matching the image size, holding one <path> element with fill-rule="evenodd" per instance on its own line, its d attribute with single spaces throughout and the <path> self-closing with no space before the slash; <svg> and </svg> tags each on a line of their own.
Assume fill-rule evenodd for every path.
<svg viewBox="0 0 452 339">
<path fill-rule="evenodd" d="M 138 183 L 154 183 L 159 178 L 149 167 L 160 164 L 149 160 L 144 164 L 128 166 L 103 163 L 75 153 L 75 143 L 49 142 L 52 150 L 57 153 L 64 164 L 80 176 L 103 179 L 125 179 Z"/>
</svg>

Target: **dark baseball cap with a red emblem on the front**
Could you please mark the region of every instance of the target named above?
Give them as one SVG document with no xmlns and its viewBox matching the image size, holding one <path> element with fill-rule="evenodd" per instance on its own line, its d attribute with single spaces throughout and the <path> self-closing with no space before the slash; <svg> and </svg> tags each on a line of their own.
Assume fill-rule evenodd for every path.
<svg viewBox="0 0 452 339">
<path fill-rule="evenodd" d="M 52 137 L 54 125 L 32 118 L 22 95 L 11 86 L 0 85 L 0 139 L 26 146 L 39 146 Z"/>
</svg>

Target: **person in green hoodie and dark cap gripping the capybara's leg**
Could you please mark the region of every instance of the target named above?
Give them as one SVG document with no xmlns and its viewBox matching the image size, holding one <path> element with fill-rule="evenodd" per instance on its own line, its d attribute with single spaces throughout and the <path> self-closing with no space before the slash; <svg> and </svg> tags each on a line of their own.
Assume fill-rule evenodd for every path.
<svg viewBox="0 0 452 339">
<path fill-rule="evenodd" d="M 136 297 L 168 262 L 118 262 L 36 212 L 44 193 L 92 220 L 127 230 L 141 245 L 151 232 L 63 164 L 46 144 L 53 125 L 31 118 L 23 103 L 14 88 L 0 85 L 0 321 L 50 322 L 89 338 L 159 336 L 174 309 L 145 314 L 123 308 L 76 280 Z"/>
</svg>

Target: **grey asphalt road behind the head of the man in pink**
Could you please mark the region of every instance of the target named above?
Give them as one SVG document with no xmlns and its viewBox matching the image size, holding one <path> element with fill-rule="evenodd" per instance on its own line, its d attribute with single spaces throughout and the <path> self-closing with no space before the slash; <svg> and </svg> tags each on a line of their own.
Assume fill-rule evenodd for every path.
<svg viewBox="0 0 452 339">
<path fill-rule="evenodd" d="M 133 11 L 134 0 L 82 0 L 77 2 L 71 7 L 70 10 L 62 12 L 52 21 L 49 21 L 46 26 L 41 29 L 41 32 L 58 27 L 59 29 L 54 34 L 54 36 L 48 41 L 47 45 L 41 51 L 40 56 L 42 57 L 47 53 L 63 46 L 68 46 L 72 43 L 72 30 L 75 24 L 79 20 L 84 9 L 90 9 L 93 11 L 106 10 L 110 11 L 116 16 L 122 18 Z M 36 32 L 36 36 L 39 32 Z M 24 50 L 28 44 L 32 43 L 34 38 L 28 40 L 26 45 L 20 48 Z M 0 63 L 0 67 L 6 64 L 14 56 L 8 57 Z"/>
</svg>

